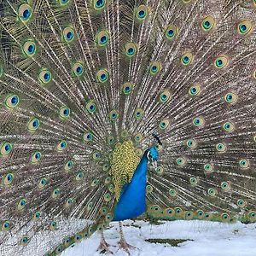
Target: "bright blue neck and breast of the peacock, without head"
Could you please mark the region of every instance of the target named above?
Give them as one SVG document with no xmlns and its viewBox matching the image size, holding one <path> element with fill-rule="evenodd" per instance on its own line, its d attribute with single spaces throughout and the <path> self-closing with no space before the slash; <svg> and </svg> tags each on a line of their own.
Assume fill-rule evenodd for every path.
<svg viewBox="0 0 256 256">
<path fill-rule="evenodd" d="M 133 174 L 131 183 L 125 184 L 121 190 L 119 202 L 114 210 L 113 221 L 136 218 L 146 212 L 146 177 L 148 158 L 144 154 Z"/>
</svg>

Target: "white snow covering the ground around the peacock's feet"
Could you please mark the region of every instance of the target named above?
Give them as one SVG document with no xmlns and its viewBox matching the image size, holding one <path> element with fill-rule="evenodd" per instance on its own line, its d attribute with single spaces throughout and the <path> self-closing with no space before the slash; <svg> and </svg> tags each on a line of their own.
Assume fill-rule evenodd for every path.
<svg viewBox="0 0 256 256">
<path fill-rule="evenodd" d="M 125 221 L 125 238 L 137 249 L 131 256 L 255 256 L 256 224 L 223 224 L 199 220 L 177 220 L 161 222 L 160 225 L 143 221 Z M 119 241 L 118 223 L 112 223 L 104 231 L 106 241 L 115 256 L 128 255 L 117 247 Z M 150 243 L 146 239 L 190 239 L 177 247 L 170 244 Z M 75 247 L 67 248 L 61 256 L 100 256 L 96 252 L 100 234 L 95 233 Z M 111 255 L 111 254 L 109 254 Z"/>
</svg>

